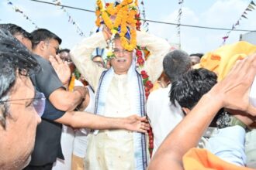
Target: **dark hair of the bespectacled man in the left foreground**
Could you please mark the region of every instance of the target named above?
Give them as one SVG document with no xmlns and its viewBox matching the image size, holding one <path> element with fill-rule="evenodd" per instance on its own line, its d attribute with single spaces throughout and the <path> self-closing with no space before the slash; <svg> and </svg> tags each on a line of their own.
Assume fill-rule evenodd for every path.
<svg viewBox="0 0 256 170">
<path fill-rule="evenodd" d="M 39 63 L 26 46 L 6 29 L 0 29 L 0 124 L 5 128 L 9 113 L 9 92 L 16 82 L 16 73 L 29 76 L 40 70 Z"/>
</svg>

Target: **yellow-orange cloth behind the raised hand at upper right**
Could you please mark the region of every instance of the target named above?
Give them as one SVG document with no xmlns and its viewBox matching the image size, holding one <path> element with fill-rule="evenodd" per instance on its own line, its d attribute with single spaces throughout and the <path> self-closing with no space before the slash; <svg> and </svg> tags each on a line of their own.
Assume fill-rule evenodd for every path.
<svg viewBox="0 0 256 170">
<path fill-rule="evenodd" d="M 256 53 L 256 46 L 249 42 L 240 41 L 206 53 L 202 56 L 200 63 L 193 67 L 203 67 L 215 72 L 218 75 L 218 81 L 220 81 L 223 80 L 238 59 L 244 59 L 253 53 Z"/>
</svg>

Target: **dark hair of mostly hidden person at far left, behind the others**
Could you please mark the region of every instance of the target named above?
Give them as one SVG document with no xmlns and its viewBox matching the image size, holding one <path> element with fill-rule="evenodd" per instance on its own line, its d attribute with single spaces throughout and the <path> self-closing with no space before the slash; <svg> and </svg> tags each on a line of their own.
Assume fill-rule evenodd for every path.
<svg viewBox="0 0 256 170">
<path fill-rule="evenodd" d="M 12 34 L 12 36 L 22 35 L 27 39 L 31 39 L 31 34 L 29 32 L 26 32 L 25 29 L 22 29 L 22 27 L 15 24 L 0 24 L 0 29 L 6 29 Z"/>
</svg>

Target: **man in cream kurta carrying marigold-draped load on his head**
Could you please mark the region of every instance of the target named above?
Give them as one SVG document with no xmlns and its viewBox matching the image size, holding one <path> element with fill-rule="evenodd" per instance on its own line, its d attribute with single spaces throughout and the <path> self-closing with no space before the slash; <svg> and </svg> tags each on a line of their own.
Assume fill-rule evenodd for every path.
<svg viewBox="0 0 256 170">
<path fill-rule="evenodd" d="M 109 3 L 104 7 L 102 1 L 97 0 L 97 5 L 98 26 L 102 19 L 105 28 L 75 46 L 71 58 L 96 92 L 95 114 L 106 117 L 137 114 L 144 117 L 144 83 L 154 82 L 161 75 L 162 61 L 170 45 L 164 39 L 136 30 L 137 2 L 123 0 L 120 4 Z M 150 51 L 143 67 L 137 67 L 137 46 Z M 97 47 L 109 48 L 109 70 L 92 62 L 91 56 Z M 148 160 L 147 138 L 143 133 L 95 130 L 88 136 L 87 170 L 142 170 L 147 168 Z"/>
</svg>

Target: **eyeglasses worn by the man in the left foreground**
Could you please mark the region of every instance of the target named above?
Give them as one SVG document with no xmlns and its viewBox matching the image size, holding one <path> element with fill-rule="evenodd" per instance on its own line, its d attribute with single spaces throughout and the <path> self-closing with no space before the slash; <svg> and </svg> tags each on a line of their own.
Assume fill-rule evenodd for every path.
<svg viewBox="0 0 256 170">
<path fill-rule="evenodd" d="M 34 107 L 35 110 L 36 110 L 36 113 L 37 113 L 40 117 L 42 117 L 43 111 L 44 111 L 44 108 L 45 108 L 45 99 L 46 99 L 46 98 L 45 98 L 45 96 L 44 96 L 43 93 L 36 92 L 34 98 L 2 100 L 2 101 L 0 101 L 0 104 L 1 104 L 1 103 L 5 103 L 5 102 L 19 101 L 19 100 L 33 100 L 33 101 L 32 101 L 32 104 L 33 104 L 33 107 Z M 16 103 L 11 103 L 11 104 L 16 104 Z"/>
</svg>

